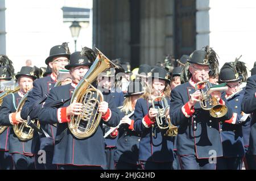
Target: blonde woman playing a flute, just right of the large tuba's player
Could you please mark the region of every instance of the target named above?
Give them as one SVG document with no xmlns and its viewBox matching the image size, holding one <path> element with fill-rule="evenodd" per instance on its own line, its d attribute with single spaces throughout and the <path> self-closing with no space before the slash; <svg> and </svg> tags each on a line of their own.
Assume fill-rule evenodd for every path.
<svg viewBox="0 0 256 181">
<path fill-rule="evenodd" d="M 138 98 L 144 93 L 141 82 L 129 83 L 123 106 L 119 107 L 121 124 L 114 153 L 117 170 L 139 170 L 139 141 L 141 135 L 134 131 L 134 108 Z M 127 115 L 132 115 L 127 117 Z"/>
</svg>

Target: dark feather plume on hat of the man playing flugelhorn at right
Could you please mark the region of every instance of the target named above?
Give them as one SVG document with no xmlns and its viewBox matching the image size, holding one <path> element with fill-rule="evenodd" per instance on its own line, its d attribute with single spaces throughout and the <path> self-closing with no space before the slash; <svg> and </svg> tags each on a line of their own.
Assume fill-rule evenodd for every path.
<svg viewBox="0 0 256 181">
<path fill-rule="evenodd" d="M 205 52 L 207 52 L 207 54 L 205 55 L 205 59 L 209 61 L 210 69 L 213 71 L 213 77 L 215 78 L 218 74 L 218 55 L 209 46 L 206 46 L 204 50 Z"/>
</svg>

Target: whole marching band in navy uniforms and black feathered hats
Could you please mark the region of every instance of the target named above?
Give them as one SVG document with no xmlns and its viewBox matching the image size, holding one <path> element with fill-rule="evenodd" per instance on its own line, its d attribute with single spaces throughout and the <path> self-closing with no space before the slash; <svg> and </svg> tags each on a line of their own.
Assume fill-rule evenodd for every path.
<svg viewBox="0 0 256 181">
<path fill-rule="evenodd" d="M 45 63 L 0 55 L 1 170 L 256 169 L 256 65 L 207 46 L 131 70 L 67 43 Z"/>
</svg>

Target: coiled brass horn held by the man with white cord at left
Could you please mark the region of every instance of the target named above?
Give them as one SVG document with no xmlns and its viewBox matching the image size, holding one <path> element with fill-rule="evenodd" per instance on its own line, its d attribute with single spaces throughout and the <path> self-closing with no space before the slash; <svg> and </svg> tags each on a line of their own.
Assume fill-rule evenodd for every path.
<svg viewBox="0 0 256 181">
<path fill-rule="evenodd" d="M 20 100 L 16 112 L 19 112 L 22 110 L 22 107 L 25 101 L 27 100 L 27 95 L 28 95 L 28 92 Z M 31 122 L 35 123 L 35 120 L 31 120 Z M 38 129 L 40 128 L 39 121 L 37 122 L 36 127 L 38 127 Z M 33 133 L 34 133 L 34 129 L 31 128 L 29 125 L 27 125 L 26 120 L 24 120 L 23 123 L 14 125 L 13 131 L 16 134 L 16 136 L 19 138 L 19 140 L 22 140 L 22 141 L 30 140 L 33 137 Z"/>
</svg>

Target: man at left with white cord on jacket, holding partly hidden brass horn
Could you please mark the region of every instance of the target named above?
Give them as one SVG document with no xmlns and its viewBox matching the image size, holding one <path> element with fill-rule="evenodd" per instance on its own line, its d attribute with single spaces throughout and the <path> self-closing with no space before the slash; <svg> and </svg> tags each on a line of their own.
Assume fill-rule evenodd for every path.
<svg viewBox="0 0 256 181">
<path fill-rule="evenodd" d="M 32 89 L 33 81 L 37 78 L 32 69 L 30 66 L 23 66 L 19 73 L 15 75 L 15 78 L 18 79 L 20 90 L 3 98 L 0 110 L 1 125 L 13 126 L 22 123 L 23 119 L 20 117 L 20 112 L 16 112 L 16 108 L 23 96 Z M 35 169 L 34 156 L 31 153 L 31 142 L 32 140 L 19 140 L 13 128 L 10 129 L 9 153 L 13 158 L 15 169 Z"/>
</svg>

